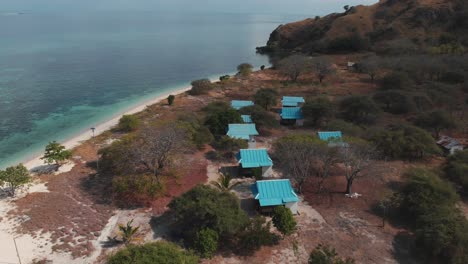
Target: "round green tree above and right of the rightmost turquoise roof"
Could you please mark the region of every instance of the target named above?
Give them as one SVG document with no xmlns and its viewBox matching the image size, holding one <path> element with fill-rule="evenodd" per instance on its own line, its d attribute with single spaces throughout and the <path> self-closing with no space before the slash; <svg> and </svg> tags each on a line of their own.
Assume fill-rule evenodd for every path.
<svg viewBox="0 0 468 264">
<path fill-rule="evenodd" d="M 367 96 L 349 96 L 340 102 L 343 117 L 350 122 L 362 124 L 372 123 L 379 109 Z"/>
</svg>

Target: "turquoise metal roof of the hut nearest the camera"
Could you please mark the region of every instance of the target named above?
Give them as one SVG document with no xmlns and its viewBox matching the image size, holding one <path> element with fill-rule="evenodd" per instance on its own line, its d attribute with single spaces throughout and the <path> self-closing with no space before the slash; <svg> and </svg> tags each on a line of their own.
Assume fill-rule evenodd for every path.
<svg viewBox="0 0 468 264">
<path fill-rule="evenodd" d="M 283 205 L 299 201 L 288 179 L 257 181 L 250 188 L 255 199 L 260 202 L 260 206 Z"/>
</svg>

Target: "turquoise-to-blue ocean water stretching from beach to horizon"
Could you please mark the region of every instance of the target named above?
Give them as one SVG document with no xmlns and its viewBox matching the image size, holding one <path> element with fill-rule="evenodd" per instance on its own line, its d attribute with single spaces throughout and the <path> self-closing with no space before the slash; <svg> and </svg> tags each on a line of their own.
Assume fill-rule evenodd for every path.
<svg viewBox="0 0 468 264">
<path fill-rule="evenodd" d="M 303 17 L 0 9 L 0 168 L 191 80 L 268 64 L 255 47 Z"/>
</svg>

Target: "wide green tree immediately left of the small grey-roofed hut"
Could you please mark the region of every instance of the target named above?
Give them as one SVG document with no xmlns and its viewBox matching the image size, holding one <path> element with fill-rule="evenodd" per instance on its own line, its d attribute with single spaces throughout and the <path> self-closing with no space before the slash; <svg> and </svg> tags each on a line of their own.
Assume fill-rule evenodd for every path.
<svg viewBox="0 0 468 264">
<path fill-rule="evenodd" d="M 384 156 L 392 159 L 422 159 L 441 152 L 429 133 L 409 125 L 375 130 L 370 140 Z"/>
</svg>

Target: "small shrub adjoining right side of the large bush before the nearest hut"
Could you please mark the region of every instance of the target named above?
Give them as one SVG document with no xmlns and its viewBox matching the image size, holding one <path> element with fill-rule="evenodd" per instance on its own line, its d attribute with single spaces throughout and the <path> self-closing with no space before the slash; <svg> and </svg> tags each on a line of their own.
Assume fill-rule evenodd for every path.
<svg viewBox="0 0 468 264">
<path fill-rule="evenodd" d="M 279 237 L 270 232 L 271 223 L 262 216 L 253 218 L 239 234 L 239 254 L 251 255 L 262 246 L 278 244 Z"/>
</svg>

